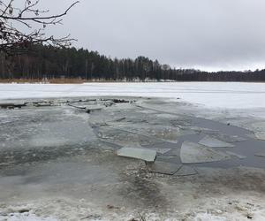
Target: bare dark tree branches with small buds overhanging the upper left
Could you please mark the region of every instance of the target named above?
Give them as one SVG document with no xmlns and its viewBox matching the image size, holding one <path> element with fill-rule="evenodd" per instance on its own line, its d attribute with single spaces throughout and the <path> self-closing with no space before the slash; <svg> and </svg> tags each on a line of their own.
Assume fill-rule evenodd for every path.
<svg viewBox="0 0 265 221">
<path fill-rule="evenodd" d="M 50 14 L 39 9 L 40 0 L 24 0 L 23 6 L 16 0 L 0 0 L 0 52 L 13 54 L 28 50 L 34 43 L 47 43 L 57 47 L 70 46 L 70 35 L 56 38 L 47 36 L 45 28 L 62 24 L 63 17 L 79 1 L 71 4 L 60 14 Z"/>
</svg>

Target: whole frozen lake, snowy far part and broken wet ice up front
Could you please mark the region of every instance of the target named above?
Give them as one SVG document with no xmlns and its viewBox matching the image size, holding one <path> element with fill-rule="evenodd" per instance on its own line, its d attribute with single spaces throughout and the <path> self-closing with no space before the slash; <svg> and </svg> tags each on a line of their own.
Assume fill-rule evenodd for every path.
<svg viewBox="0 0 265 221">
<path fill-rule="evenodd" d="M 262 220 L 262 86 L 1 84 L 0 220 Z"/>
</svg>

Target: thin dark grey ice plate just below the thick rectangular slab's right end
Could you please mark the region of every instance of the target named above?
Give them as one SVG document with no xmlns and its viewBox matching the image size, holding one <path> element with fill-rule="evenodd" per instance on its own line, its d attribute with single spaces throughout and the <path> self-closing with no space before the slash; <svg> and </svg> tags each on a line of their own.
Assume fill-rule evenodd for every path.
<svg viewBox="0 0 265 221">
<path fill-rule="evenodd" d="M 180 169 L 180 167 L 181 164 L 171 164 L 163 161 L 155 161 L 154 164 L 148 165 L 148 171 L 166 175 L 173 175 Z"/>
</svg>

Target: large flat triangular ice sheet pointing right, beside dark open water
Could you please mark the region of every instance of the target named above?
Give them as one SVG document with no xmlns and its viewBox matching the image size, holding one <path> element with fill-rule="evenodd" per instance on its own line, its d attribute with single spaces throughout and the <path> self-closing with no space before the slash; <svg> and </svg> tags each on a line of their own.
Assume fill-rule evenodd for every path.
<svg viewBox="0 0 265 221">
<path fill-rule="evenodd" d="M 180 149 L 180 158 L 183 164 L 197 164 L 222 161 L 231 157 L 201 144 L 185 141 Z"/>
</svg>

